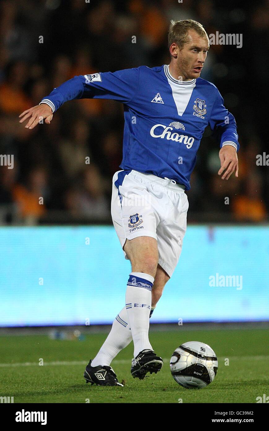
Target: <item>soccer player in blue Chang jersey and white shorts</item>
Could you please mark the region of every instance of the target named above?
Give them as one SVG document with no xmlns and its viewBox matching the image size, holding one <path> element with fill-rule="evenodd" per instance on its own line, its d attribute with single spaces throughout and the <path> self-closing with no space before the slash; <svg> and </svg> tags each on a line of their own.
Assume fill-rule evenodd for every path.
<svg viewBox="0 0 269 431">
<path fill-rule="evenodd" d="M 132 272 L 125 306 L 84 372 L 92 384 L 122 386 L 110 364 L 132 339 L 133 377 L 163 365 L 148 339 L 149 318 L 179 260 L 189 207 L 185 190 L 207 125 L 220 144 L 218 174 L 228 180 L 235 171 L 238 177 L 235 119 L 215 85 L 200 78 L 209 50 L 206 31 L 191 19 L 172 21 L 168 42 L 169 65 L 75 76 L 20 115 L 33 129 L 40 117 L 50 124 L 68 100 L 124 104 L 123 160 L 112 180 L 111 215 Z"/>
</svg>

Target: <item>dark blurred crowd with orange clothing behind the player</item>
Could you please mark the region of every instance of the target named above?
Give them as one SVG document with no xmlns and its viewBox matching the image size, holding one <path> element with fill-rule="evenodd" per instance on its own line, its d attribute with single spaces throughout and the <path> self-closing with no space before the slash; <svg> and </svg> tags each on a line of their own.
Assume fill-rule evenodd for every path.
<svg viewBox="0 0 269 431">
<path fill-rule="evenodd" d="M 269 153 L 268 5 L 223 0 L 2 1 L 0 154 L 14 154 L 14 168 L 0 166 L 0 223 L 111 223 L 111 180 L 122 159 L 123 106 L 111 100 L 71 101 L 50 125 L 32 131 L 19 124 L 18 116 L 74 75 L 168 64 L 171 19 L 195 19 L 207 34 L 239 33 L 243 41 L 242 48 L 211 45 L 201 74 L 218 87 L 235 116 L 239 178 L 223 181 L 217 175 L 219 146 L 207 128 L 187 192 L 188 219 L 268 221 L 269 167 L 256 164 L 258 154 Z M 89 165 L 85 157 L 90 157 Z"/>
</svg>

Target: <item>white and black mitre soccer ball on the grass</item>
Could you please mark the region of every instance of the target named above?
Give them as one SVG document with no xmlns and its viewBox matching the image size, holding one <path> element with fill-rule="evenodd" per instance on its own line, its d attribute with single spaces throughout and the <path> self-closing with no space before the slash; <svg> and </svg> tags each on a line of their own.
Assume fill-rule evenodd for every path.
<svg viewBox="0 0 269 431">
<path fill-rule="evenodd" d="M 170 360 L 174 380 L 188 389 L 206 387 L 214 380 L 217 369 L 216 353 L 199 341 L 181 344 Z"/>
</svg>

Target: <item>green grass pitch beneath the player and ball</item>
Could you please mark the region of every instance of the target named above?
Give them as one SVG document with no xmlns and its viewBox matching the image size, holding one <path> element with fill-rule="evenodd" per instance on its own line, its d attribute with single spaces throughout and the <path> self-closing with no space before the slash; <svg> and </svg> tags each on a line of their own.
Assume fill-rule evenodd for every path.
<svg viewBox="0 0 269 431">
<path fill-rule="evenodd" d="M 157 375 L 148 374 L 142 381 L 131 377 L 131 343 L 111 364 L 124 387 L 91 386 L 83 371 L 105 337 L 90 334 L 84 341 L 69 341 L 46 335 L 1 336 L 0 396 L 14 397 L 14 403 L 256 403 L 268 394 L 266 329 L 150 331 L 152 346 L 164 359 Z M 209 344 L 219 361 L 215 380 L 200 390 L 182 388 L 170 374 L 174 349 L 192 340 Z M 40 358 L 43 366 L 38 365 Z"/>
</svg>

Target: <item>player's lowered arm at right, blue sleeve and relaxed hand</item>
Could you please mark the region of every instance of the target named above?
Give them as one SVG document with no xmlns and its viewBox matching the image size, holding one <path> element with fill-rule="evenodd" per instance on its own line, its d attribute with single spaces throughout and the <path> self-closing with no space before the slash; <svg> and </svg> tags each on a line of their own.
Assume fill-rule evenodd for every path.
<svg viewBox="0 0 269 431">
<path fill-rule="evenodd" d="M 238 177 L 237 152 L 240 145 L 235 117 L 223 106 L 223 98 L 218 90 L 209 124 L 220 141 L 220 170 L 218 174 L 222 175 L 223 180 L 228 180 L 235 171 L 235 176 Z"/>
</svg>

